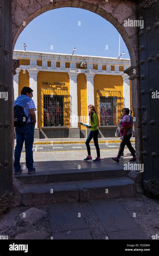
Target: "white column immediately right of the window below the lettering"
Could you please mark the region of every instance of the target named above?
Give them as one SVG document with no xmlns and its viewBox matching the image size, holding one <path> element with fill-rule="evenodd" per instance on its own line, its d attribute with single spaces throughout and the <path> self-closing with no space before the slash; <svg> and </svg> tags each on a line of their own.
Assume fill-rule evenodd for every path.
<svg viewBox="0 0 159 256">
<path fill-rule="evenodd" d="M 77 75 L 78 72 L 68 71 L 70 78 L 70 127 L 78 127 Z"/>
</svg>

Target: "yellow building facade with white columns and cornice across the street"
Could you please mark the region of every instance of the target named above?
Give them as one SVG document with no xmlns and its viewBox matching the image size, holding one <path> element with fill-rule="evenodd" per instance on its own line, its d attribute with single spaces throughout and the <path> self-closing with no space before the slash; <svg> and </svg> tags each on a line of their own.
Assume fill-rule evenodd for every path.
<svg viewBox="0 0 159 256">
<path fill-rule="evenodd" d="M 33 89 L 36 138 L 82 138 L 89 129 L 88 105 L 98 112 L 101 137 L 114 137 L 123 107 L 132 110 L 131 82 L 123 70 L 130 59 L 14 51 L 14 99 Z"/>
</svg>

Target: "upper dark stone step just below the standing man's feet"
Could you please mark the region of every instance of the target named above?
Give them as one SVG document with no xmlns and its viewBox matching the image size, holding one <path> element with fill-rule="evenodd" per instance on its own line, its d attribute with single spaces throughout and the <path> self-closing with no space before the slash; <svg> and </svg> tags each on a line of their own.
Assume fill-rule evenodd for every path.
<svg viewBox="0 0 159 256">
<path fill-rule="evenodd" d="M 119 167 L 100 167 L 100 168 L 87 168 L 87 169 L 70 169 L 70 170 L 52 170 L 52 171 L 39 171 L 32 174 L 27 172 L 15 175 L 15 178 L 20 184 L 34 184 L 34 183 L 53 183 L 64 181 L 77 181 L 77 180 L 92 180 L 102 178 L 118 178 L 126 177 L 128 171 Z"/>
</svg>

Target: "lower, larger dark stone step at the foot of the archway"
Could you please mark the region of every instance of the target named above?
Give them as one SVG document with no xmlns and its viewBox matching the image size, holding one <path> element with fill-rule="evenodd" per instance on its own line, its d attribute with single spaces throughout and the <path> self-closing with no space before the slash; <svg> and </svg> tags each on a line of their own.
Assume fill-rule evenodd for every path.
<svg viewBox="0 0 159 256">
<path fill-rule="evenodd" d="M 135 196 L 134 181 L 127 177 L 24 184 L 20 194 L 22 204 L 47 205 L 73 201 L 88 201 Z"/>
</svg>

